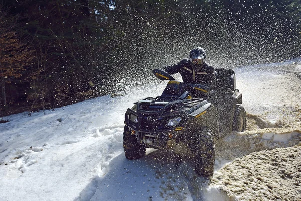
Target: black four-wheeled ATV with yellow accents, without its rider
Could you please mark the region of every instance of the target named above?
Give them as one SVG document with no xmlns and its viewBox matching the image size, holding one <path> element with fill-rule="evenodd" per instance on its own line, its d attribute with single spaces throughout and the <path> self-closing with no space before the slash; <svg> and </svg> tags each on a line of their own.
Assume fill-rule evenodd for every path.
<svg viewBox="0 0 301 201">
<path fill-rule="evenodd" d="M 146 148 L 173 150 L 190 159 L 201 176 L 212 176 L 215 142 L 246 128 L 242 94 L 231 69 L 215 69 L 215 86 L 185 84 L 160 69 L 154 73 L 170 80 L 158 97 L 134 103 L 125 113 L 123 148 L 127 159 L 145 156 Z"/>
</svg>

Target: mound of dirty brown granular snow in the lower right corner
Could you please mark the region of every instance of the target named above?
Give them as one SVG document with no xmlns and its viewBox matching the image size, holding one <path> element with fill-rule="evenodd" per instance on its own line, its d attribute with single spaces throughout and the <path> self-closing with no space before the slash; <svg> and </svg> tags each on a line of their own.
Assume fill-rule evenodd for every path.
<svg viewBox="0 0 301 201">
<path fill-rule="evenodd" d="M 206 200 L 220 197 L 222 200 L 301 200 L 300 161 L 301 143 L 253 152 L 216 172 L 204 197 L 209 197 Z"/>
</svg>

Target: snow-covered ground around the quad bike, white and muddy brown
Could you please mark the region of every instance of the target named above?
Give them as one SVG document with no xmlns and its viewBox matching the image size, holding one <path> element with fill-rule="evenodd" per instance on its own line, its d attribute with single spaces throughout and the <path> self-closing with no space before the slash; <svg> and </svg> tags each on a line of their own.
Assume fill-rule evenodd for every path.
<svg viewBox="0 0 301 201">
<path fill-rule="evenodd" d="M 10 122 L 0 124 L 0 200 L 300 200 L 300 61 L 235 71 L 248 127 L 219 142 L 212 178 L 170 152 L 125 158 L 124 113 L 160 95 L 162 82 L 3 117 Z"/>
</svg>

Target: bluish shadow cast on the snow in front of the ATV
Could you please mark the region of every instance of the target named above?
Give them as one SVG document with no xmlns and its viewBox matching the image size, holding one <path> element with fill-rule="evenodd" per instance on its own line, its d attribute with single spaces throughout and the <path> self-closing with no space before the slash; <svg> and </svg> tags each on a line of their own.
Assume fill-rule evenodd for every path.
<svg viewBox="0 0 301 201">
<path fill-rule="evenodd" d="M 138 160 L 122 153 L 75 200 L 195 200 L 206 186 L 207 179 L 171 152 L 156 150 Z"/>
</svg>

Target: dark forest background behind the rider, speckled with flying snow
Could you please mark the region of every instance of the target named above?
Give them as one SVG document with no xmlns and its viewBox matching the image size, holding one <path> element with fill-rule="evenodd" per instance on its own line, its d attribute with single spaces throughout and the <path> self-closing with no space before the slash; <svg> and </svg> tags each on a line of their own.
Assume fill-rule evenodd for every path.
<svg viewBox="0 0 301 201">
<path fill-rule="evenodd" d="M 300 57 L 301 0 L 2 0 L 0 116 L 116 94 L 195 46 L 215 68 Z"/>
</svg>

